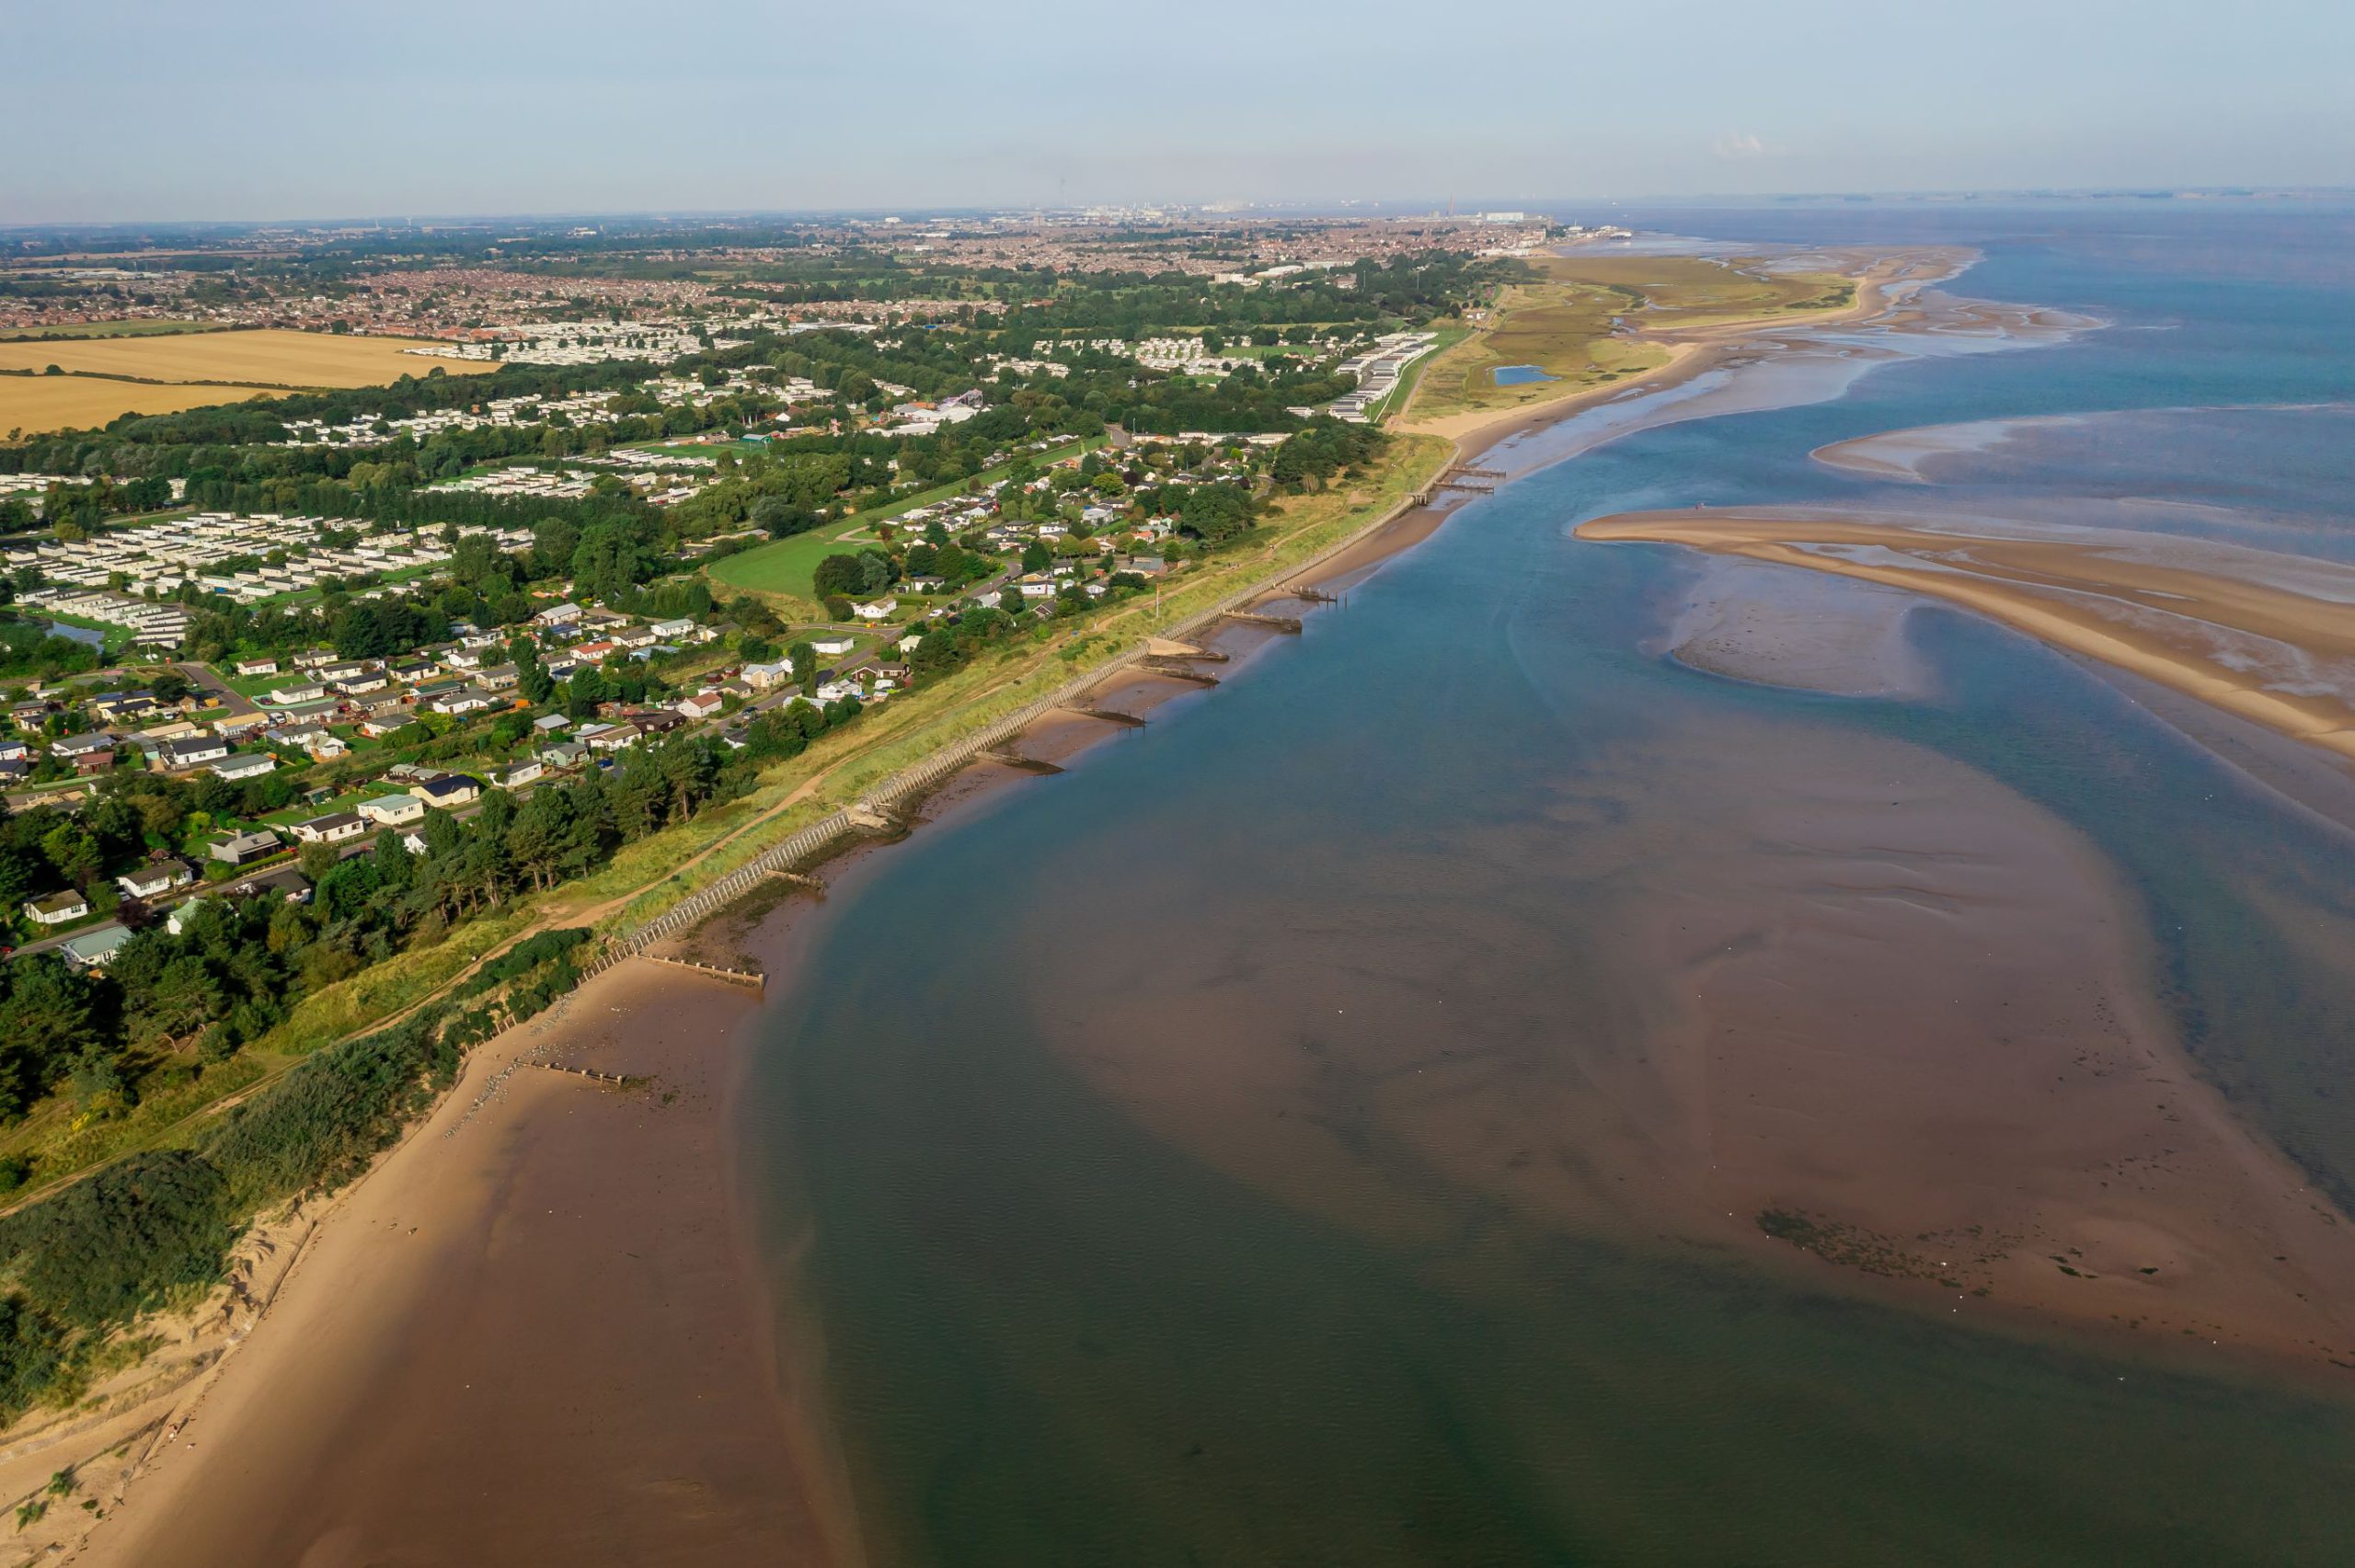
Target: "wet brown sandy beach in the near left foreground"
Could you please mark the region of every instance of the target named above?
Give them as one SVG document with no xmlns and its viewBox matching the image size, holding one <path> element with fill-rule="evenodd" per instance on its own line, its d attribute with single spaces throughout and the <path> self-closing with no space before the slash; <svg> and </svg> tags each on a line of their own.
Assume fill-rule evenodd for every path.
<svg viewBox="0 0 2355 1568">
<path fill-rule="evenodd" d="M 725 1177 L 754 1005 L 624 963 L 476 1050 L 73 1561 L 855 1561 Z"/>
</svg>

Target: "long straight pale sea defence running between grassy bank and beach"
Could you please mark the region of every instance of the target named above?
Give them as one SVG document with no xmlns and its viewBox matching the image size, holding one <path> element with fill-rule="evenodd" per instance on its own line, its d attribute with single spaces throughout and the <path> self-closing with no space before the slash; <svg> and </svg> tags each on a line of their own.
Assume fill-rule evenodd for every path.
<svg viewBox="0 0 2355 1568">
<path fill-rule="evenodd" d="M 1006 713 L 1003 718 L 996 718 L 982 725 L 980 730 L 973 730 L 970 735 L 944 744 L 926 760 L 883 779 L 853 805 L 845 805 L 843 810 L 812 822 L 810 826 L 791 833 L 789 838 L 770 845 L 768 850 L 761 850 L 735 871 L 728 871 L 714 883 L 690 892 L 678 904 L 671 904 L 645 925 L 617 932 L 605 942 L 603 954 L 582 965 L 579 970 L 582 979 L 612 968 L 622 958 L 633 958 L 638 954 L 645 954 L 657 942 L 685 935 L 714 911 L 732 904 L 735 899 L 758 888 L 772 873 L 796 871 L 801 866 L 824 859 L 838 841 L 860 833 L 862 824 L 881 822 L 883 812 L 890 805 L 909 798 L 923 798 L 926 791 L 942 784 L 949 775 L 966 768 L 982 753 L 1003 751 L 1017 735 L 1022 735 L 1027 727 L 1031 727 L 1048 713 L 1055 713 L 1057 709 L 1128 727 L 1142 725 L 1145 720 L 1137 718 L 1135 713 L 1114 713 L 1109 709 L 1090 706 L 1088 695 L 1112 676 L 1121 673 L 1123 669 L 1140 664 L 1147 655 L 1156 650 L 1156 645 L 1178 643 L 1187 647 L 1199 647 L 1203 629 L 1208 629 L 1220 619 L 1234 617 L 1236 612 L 1241 612 L 1239 619 L 1265 619 L 1265 622 L 1276 619 L 1276 617 L 1253 617 L 1248 605 L 1253 605 L 1260 598 L 1267 598 L 1269 593 L 1281 591 L 1286 584 L 1300 577 L 1307 577 L 1309 572 L 1338 558 L 1340 553 L 1356 549 L 1356 544 L 1368 534 L 1389 527 L 1394 520 L 1404 518 L 1408 511 L 1415 511 L 1418 506 L 1425 504 L 1429 504 L 1427 492 L 1401 497 L 1380 516 L 1366 520 L 1361 527 L 1349 530 L 1340 539 L 1333 539 L 1331 544 L 1307 556 L 1305 560 L 1295 560 L 1293 565 L 1281 567 L 1272 577 L 1262 577 L 1255 584 L 1246 584 L 1234 593 L 1227 593 L 1213 600 L 1210 605 L 1203 605 L 1201 610 L 1178 622 L 1175 626 L 1163 626 L 1152 636 L 1137 638 L 1130 647 L 1112 655 L 1109 659 L 1088 671 L 1081 671 L 1079 676 L 1072 676 L 1069 680 L 1057 685 L 1053 692 L 1039 697 L 1036 702 L 1029 702 Z M 1300 631 L 1298 619 L 1286 624 L 1291 631 Z"/>
</svg>

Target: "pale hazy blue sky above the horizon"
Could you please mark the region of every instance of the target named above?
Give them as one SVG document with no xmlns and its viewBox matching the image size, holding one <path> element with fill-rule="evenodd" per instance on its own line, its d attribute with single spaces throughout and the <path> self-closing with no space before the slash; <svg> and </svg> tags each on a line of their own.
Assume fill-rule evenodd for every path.
<svg viewBox="0 0 2355 1568">
<path fill-rule="evenodd" d="M 2355 186 L 2350 0 L 0 0 L 0 226 Z"/>
</svg>

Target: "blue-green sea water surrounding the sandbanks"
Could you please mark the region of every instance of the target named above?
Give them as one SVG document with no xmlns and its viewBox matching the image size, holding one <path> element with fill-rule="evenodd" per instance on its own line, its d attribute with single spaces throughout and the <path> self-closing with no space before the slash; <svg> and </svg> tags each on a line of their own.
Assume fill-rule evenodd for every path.
<svg viewBox="0 0 2355 1568">
<path fill-rule="evenodd" d="M 763 1017 L 744 1180 L 796 1248 L 777 1309 L 824 1347 L 878 1561 L 2348 1561 L 2355 1387 L 1540 1224 L 1462 1177 L 1477 1149 L 1434 1158 L 1373 1114 L 1387 1074 L 1439 1050 L 1493 1050 L 1510 1092 L 1559 1034 L 1634 1026 L 1597 845 L 1665 852 L 1740 782 L 1738 756 L 1674 777 L 1656 758 L 1717 735 L 1903 742 L 2096 845 L 2202 1071 L 2355 1201 L 2346 831 L 1950 610 L 1910 622 L 1936 673 L 1910 697 L 1698 673 L 1658 652 L 1693 560 L 1568 537 L 1651 506 L 1919 509 L 1924 487 L 1809 452 L 2115 414 L 2075 447 L 2039 426 L 1941 459 L 1933 492 L 2098 509 L 2193 487 L 2188 530 L 2343 558 L 2348 445 L 2308 410 L 2355 400 L 2348 212 L 1646 221 L 1966 242 L 1985 259 L 1957 292 L 2108 327 L 1884 365 L 1830 403 L 1637 431 L 1512 483 L 1218 692 L 926 829 L 824 911 Z M 1309 1076 L 1229 1048 L 1255 1015 L 1288 1019 Z M 1170 1059 L 1121 1050 L 1145 1024 Z"/>
</svg>

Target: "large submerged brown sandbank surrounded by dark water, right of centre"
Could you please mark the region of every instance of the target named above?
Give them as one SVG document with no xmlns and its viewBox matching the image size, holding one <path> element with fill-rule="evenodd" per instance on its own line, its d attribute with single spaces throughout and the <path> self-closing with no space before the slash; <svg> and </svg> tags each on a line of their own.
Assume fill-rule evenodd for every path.
<svg viewBox="0 0 2355 1568">
<path fill-rule="evenodd" d="M 1719 725 L 1545 826 L 1340 876 L 1128 890 L 1208 899 L 1152 949 L 1064 911 L 1107 939 L 1050 1041 L 1192 1156 L 1404 1245 L 1502 1203 L 1983 1328 L 2355 1366 L 2355 1234 L 2197 1081 L 2091 848 L 1985 775 Z"/>
</svg>

